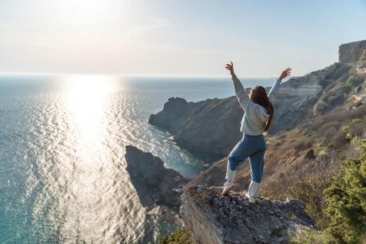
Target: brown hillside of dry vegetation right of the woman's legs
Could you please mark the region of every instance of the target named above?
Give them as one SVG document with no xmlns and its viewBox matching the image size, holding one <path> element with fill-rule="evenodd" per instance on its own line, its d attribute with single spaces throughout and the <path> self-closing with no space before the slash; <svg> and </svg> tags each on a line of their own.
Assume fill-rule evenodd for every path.
<svg viewBox="0 0 366 244">
<path fill-rule="evenodd" d="M 366 137 L 365 125 L 365 105 L 354 109 L 339 107 L 305 121 L 294 130 L 271 137 L 268 144 L 273 150 L 270 149 L 268 160 L 286 158 L 287 153 L 283 152 L 289 150 L 293 161 L 266 178 L 262 194 L 271 199 L 301 199 L 307 212 L 317 220 L 317 228 L 328 227 L 330 220 L 323 211 L 327 207 L 323 191 L 329 188 L 333 176 L 343 170 L 340 162 L 354 153 L 350 136 Z"/>
</svg>

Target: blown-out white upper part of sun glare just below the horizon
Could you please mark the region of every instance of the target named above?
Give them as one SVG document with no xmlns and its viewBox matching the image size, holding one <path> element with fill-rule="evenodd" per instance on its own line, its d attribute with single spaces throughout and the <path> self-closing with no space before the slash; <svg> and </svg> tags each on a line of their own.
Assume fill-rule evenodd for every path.
<svg viewBox="0 0 366 244">
<path fill-rule="evenodd" d="M 96 163 L 103 155 L 107 133 L 108 96 L 116 91 L 116 80 L 105 75 L 70 75 L 62 80 L 66 91 L 66 110 L 70 126 L 74 126 L 80 162 Z M 85 148 L 94 150 L 86 151 Z M 97 158 L 98 158 L 97 157 Z"/>
</svg>

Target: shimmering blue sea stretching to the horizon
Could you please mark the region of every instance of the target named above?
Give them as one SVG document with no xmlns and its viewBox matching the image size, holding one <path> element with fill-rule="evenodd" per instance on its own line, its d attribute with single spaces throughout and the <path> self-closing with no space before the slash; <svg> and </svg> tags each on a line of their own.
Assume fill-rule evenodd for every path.
<svg viewBox="0 0 366 244">
<path fill-rule="evenodd" d="M 0 75 L 0 243 L 155 243 L 171 233 L 180 222 L 140 204 L 125 146 L 194 177 L 205 162 L 148 118 L 171 97 L 234 95 L 229 77 Z"/>
</svg>

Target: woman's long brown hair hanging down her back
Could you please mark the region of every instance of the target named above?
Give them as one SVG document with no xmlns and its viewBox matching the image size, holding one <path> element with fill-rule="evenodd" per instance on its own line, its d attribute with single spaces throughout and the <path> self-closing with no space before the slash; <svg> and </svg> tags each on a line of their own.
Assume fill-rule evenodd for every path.
<svg viewBox="0 0 366 244">
<path fill-rule="evenodd" d="M 274 109 L 273 109 L 272 102 L 270 102 L 270 100 L 268 99 L 266 89 L 264 89 L 263 86 L 254 86 L 250 90 L 249 97 L 250 97 L 250 100 L 252 100 L 252 102 L 261 105 L 269 113 L 269 118 L 266 122 L 266 128 L 264 128 L 264 132 L 263 132 L 263 135 L 267 135 L 269 127 L 270 127 L 270 123 L 272 122 Z"/>
</svg>

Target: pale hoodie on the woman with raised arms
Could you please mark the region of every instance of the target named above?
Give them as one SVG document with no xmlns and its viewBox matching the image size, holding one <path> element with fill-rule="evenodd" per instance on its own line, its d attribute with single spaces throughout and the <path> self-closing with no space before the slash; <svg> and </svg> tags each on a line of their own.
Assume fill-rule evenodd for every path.
<svg viewBox="0 0 366 244">
<path fill-rule="evenodd" d="M 232 79 L 236 97 L 244 109 L 243 119 L 241 120 L 241 132 L 247 135 L 262 135 L 266 128 L 269 113 L 264 107 L 250 100 L 238 77 L 233 77 Z M 277 91 L 280 89 L 280 84 L 281 80 L 277 79 L 268 93 L 268 99 L 273 105 Z"/>
</svg>

